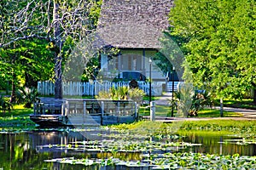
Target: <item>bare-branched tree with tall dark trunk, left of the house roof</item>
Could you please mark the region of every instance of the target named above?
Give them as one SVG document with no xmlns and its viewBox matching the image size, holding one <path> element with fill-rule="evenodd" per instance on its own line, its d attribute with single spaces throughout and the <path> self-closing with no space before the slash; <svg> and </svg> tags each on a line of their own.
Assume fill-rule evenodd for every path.
<svg viewBox="0 0 256 170">
<path fill-rule="evenodd" d="M 68 37 L 82 40 L 93 31 L 100 4 L 96 0 L 3 0 L 0 48 L 11 48 L 20 40 L 47 41 L 55 59 L 55 98 L 61 99 L 65 42 Z"/>
</svg>

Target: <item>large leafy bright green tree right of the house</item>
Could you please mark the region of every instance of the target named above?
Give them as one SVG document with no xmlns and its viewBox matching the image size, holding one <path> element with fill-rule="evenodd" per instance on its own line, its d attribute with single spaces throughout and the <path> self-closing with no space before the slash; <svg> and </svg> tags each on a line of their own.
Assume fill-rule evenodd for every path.
<svg viewBox="0 0 256 170">
<path fill-rule="evenodd" d="M 183 37 L 195 86 L 222 100 L 241 99 L 256 77 L 256 8 L 253 0 L 176 0 L 173 36 Z M 255 89 L 255 86 L 254 86 Z M 221 110 L 222 113 L 222 110 Z"/>
</svg>

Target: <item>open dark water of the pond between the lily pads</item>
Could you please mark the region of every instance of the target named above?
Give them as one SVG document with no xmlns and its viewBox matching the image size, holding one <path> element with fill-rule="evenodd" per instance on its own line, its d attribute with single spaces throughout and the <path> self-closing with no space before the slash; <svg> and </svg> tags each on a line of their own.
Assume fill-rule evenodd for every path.
<svg viewBox="0 0 256 170">
<path fill-rule="evenodd" d="M 98 132 L 96 132 L 98 133 Z M 209 154 L 233 155 L 238 153 L 241 156 L 256 156 L 256 144 L 228 144 L 226 139 L 234 139 L 229 136 L 196 136 L 184 137 L 184 142 L 201 144 L 189 147 L 185 150 Z M 0 133 L 0 169 L 98 169 L 98 167 L 85 167 L 81 165 L 60 164 L 46 162 L 54 158 L 76 157 L 76 158 L 102 158 L 111 156 L 108 153 L 86 152 L 84 150 L 61 150 L 49 146 L 51 144 L 70 144 L 76 141 L 103 139 L 102 135 L 84 135 L 79 132 L 60 131 L 31 131 L 24 133 Z M 236 138 L 235 138 L 236 139 Z M 139 153 L 119 153 L 121 157 L 139 159 Z"/>
</svg>

